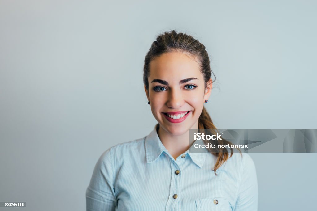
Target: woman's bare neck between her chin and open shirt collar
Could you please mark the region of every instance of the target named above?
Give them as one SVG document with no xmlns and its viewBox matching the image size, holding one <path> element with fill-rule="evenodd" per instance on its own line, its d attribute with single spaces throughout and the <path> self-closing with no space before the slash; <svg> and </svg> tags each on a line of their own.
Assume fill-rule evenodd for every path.
<svg viewBox="0 0 317 211">
<path fill-rule="evenodd" d="M 198 120 L 191 127 L 191 129 L 192 128 L 198 128 Z M 190 130 L 181 135 L 173 135 L 166 132 L 164 128 L 159 127 L 158 135 L 162 144 L 175 160 L 179 155 L 186 152 L 191 146 L 189 141 Z"/>
</svg>

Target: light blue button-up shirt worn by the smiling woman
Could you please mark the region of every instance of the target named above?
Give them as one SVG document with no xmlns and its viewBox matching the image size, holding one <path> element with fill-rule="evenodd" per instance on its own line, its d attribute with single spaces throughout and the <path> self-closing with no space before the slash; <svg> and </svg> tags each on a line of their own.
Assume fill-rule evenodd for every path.
<svg viewBox="0 0 317 211">
<path fill-rule="evenodd" d="M 158 126 L 100 156 L 86 191 L 87 211 L 257 210 L 256 169 L 247 153 L 233 153 L 216 176 L 217 158 L 207 149 L 187 150 L 175 160 L 160 141 Z"/>
</svg>

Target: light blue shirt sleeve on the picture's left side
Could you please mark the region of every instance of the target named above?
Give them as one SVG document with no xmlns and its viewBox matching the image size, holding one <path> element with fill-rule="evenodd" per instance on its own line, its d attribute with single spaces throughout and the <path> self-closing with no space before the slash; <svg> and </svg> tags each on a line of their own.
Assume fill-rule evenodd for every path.
<svg viewBox="0 0 317 211">
<path fill-rule="evenodd" d="M 104 152 L 95 165 L 86 190 L 87 211 L 115 211 L 117 198 L 114 193 L 115 175 L 112 148 Z"/>
</svg>

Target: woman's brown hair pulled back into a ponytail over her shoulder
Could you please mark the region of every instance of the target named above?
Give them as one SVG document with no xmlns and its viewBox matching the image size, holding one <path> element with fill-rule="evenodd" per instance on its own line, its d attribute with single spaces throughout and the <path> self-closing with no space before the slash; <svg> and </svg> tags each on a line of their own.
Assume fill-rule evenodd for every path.
<svg viewBox="0 0 317 211">
<path fill-rule="evenodd" d="M 208 89 L 209 87 L 207 86 L 207 83 L 210 80 L 211 74 L 214 75 L 214 73 L 211 71 L 209 56 L 207 51 L 205 50 L 205 46 L 201 44 L 198 40 L 194 39 L 191 35 L 185 33 L 177 33 L 175 30 L 172 30 L 171 32 L 165 32 L 164 34 L 159 34 L 156 38 L 156 41 L 152 43 L 150 50 L 146 54 L 143 68 L 143 83 L 146 86 L 146 89 L 149 90 L 148 76 L 150 72 L 150 62 L 164 53 L 176 51 L 187 53 L 197 59 L 200 66 L 200 71 L 204 77 L 205 89 Z M 219 133 L 217 128 L 214 126 L 205 107 L 203 107 L 203 111 L 198 119 L 198 129 L 203 128 L 209 128 L 208 130 L 204 130 L 204 133 L 206 133 L 206 131 L 209 134 L 216 134 L 217 132 Z M 224 139 L 210 141 L 211 142 L 209 143 L 213 144 L 230 144 L 229 141 Z M 204 143 L 207 144 L 207 140 L 204 140 Z M 215 174 L 216 170 L 233 155 L 232 148 L 230 148 L 230 157 L 229 152 L 226 148 L 217 149 L 217 152 L 210 148 L 208 148 L 208 150 L 211 154 L 217 157 L 217 161 L 213 169 L 215 171 Z"/>
</svg>

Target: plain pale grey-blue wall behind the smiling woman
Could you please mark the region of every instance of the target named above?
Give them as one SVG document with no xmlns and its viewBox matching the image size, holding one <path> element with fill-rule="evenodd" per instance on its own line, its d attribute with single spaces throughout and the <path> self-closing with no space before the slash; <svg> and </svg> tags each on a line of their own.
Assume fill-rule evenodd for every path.
<svg viewBox="0 0 317 211">
<path fill-rule="evenodd" d="M 317 128 L 315 1 L 0 1 L 1 210 L 85 210 L 109 147 L 153 129 L 157 34 L 201 41 L 219 128 Z M 252 153 L 259 211 L 315 208 L 317 153 Z"/>
</svg>

